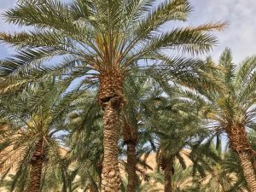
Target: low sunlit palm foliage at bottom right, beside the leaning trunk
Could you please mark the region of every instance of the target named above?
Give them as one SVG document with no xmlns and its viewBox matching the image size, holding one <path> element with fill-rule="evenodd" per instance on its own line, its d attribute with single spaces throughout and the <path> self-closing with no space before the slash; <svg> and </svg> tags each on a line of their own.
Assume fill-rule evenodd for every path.
<svg viewBox="0 0 256 192">
<path fill-rule="evenodd" d="M 213 142 L 213 138 L 215 142 Z M 209 168 L 203 174 L 195 175 L 193 177 L 193 187 L 189 191 L 201 191 L 201 192 L 235 192 L 235 191 L 247 191 L 246 179 L 242 174 L 242 169 L 239 163 L 238 155 L 228 149 L 223 150 L 223 144 L 220 136 L 207 138 L 207 142 L 203 145 L 196 146 L 191 152 L 191 160 L 193 164 L 196 159 L 202 154 L 214 153 L 217 154 L 219 160 L 212 161 L 206 158 Z M 198 150 L 198 149 L 199 150 Z M 194 153 L 195 152 L 195 153 Z M 198 155 L 200 154 L 200 155 Z M 211 155 L 212 156 L 212 155 Z M 203 162 L 203 161 L 201 161 Z M 217 163 L 216 163 L 217 162 Z M 201 170 L 201 169 L 199 169 Z M 201 172 L 200 172 L 201 173 Z"/>
</svg>

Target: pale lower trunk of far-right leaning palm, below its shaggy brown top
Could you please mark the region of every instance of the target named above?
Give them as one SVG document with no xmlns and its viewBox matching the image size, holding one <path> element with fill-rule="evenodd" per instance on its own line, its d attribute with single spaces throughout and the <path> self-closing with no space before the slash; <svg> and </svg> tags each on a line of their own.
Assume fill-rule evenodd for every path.
<svg viewBox="0 0 256 192">
<path fill-rule="evenodd" d="M 256 192 L 256 179 L 251 162 L 251 156 L 247 154 L 247 152 L 240 152 L 238 153 L 238 156 L 241 161 L 241 168 L 244 177 L 246 177 L 247 180 L 248 189 L 250 189 L 251 192 Z"/>
</svg>

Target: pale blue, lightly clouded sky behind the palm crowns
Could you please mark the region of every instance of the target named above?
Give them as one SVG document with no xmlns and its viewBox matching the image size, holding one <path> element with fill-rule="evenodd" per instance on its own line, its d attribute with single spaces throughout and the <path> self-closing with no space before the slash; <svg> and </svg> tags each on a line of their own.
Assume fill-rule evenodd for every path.
<svg viewBox="0 0 256 192">
<path fill-rule="evenodd" d="M 0 0 L 0 13 L 13 7 L 16 0 Z M 188 25 L 197 26 L 209 21 L 228 21 L 230 25 L 224 32 L 216 32 L 219 44 L 207 55 L 217 61 L 224 48 L 233 52 L 234 62 L 239 63 L 247 56 L 256 55 L 256 13 L 255 0 L 191 0 L 194 11 Z M 9 26 L 0 19 L 0 32 L 14 32 L 17 26 Z M 0 44 L 0 58 L 13 52 Z"/>
</svg>

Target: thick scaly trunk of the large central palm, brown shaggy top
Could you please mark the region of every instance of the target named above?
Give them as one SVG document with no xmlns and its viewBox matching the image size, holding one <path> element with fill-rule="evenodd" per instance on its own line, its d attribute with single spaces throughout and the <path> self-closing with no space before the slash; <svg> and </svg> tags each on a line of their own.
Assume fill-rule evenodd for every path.
<svg viewBox="0 0 256 192">
<path fill-rule="evenodd" d="M 123 74 L 118 70 L 100 75 L 99 103 L 103 108 L 102 192 L 119 192 L 119 111 L 124 105 Z"/>
</svg>

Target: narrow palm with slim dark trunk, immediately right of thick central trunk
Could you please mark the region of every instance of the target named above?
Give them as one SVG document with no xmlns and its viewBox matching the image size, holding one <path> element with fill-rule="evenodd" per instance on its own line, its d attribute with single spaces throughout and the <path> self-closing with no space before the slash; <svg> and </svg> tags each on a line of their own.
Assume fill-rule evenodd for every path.
<svg viewBox="0 0 256 192">
<path fill-rule="evenodd" d="M 142 77 L 130 77 L 125 79 L 124 88 L 127 102 L 122 112 L 121 122 L 123 140 L 127 147 L 127 192 L 136 192 L 138 187 L 137 165 L 140 163 L 137 155 L 137 144 L 141 137 L 139 132 L 143 130 L 143 125 L 145 125 L 146 102 L 148 102 L 148 96 L 151 94 L 152 84 Z"/>
</svg>

